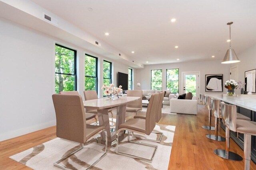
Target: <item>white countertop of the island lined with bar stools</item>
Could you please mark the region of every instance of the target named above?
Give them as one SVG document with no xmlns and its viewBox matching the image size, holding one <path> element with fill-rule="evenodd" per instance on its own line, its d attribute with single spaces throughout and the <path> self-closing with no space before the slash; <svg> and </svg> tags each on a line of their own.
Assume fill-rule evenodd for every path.
<svg viewBox="0 0 256 170">
<path fill-rule="evenodd" d="M 256 95 L 240 94 L 238 96 L 227 96 L 226 94 L 206 94 L 212 98 L 256 111 Z"/>
</svg>

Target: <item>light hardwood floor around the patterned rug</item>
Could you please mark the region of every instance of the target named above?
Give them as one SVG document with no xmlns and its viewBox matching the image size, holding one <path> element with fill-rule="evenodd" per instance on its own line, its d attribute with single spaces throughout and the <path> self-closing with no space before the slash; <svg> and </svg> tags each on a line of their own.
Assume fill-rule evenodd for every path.
<svg viewBox="0 0 256 170">
<path fill-rule="evenodd" d="M 130 118 L 133 115 L 128 113 L 126 117 Z M 205 137 L 208 133 L 214 134 L 214 131 L 201 127 L 208 123 L 208 110 L 202 105 L 198 105 L 198 115 L 163 114 L 159 123 L 176 126 L 168 170 L 244 169 L 244 161 L 224 160 L 213 153 L 214 149 L 225 149 L 225 142 L 212 141 Z M 225 137 L 222 129 L 219 135 Z M 10 159 L 9 156 L 54 138 L 56 138 L 55 126 L 0 142 L 0 170 L 29 170 L 30 168 Z M 230 140 L 230 151 L 243 156 L 243 150 L 233 140 Z M 252 161 L 250 170 L 256 170 L 256 165 Z"/>
</svg>

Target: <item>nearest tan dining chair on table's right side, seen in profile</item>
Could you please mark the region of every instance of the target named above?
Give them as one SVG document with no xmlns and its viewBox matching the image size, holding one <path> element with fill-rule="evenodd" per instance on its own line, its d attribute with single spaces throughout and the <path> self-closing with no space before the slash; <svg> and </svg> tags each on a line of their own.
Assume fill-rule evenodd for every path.
<svg viewBox="0 0 256 170">
<path fill-rule="evenodd" d="M 151 95 L 150 97 L 150 101 L 148 104 L 148 109 L 147 109 L 147 113 L 146 113 L 146 119 L 128 119 L 128 121 L 126 121 L 125 123 L 122 123 L 118 126 L 118 130 L 116 131 L 116 154 L 121 154 L 124 156 L 128 156 L 131 158 L 137 158 L 140 160 L 145 160 L 148 162 L 152 162 L 154 155 L 156 153 L 157 150 L 157 146 L 156 145 L 151 145 L 151 144 L 147 144 L 147 143 L 142 143 L 142 142 L 137 142 L 137 141 L 133 141 L 130 140 L 130 132 L 136 132 L 136 133 L 140 133 L 140 134 L 146 134 L 146 135 L 150 135 L 150 133 L 153 131 L 154 127 L 156 126 L 156 111 L 157 111 L 157 105 L 158 105 L 158 97 L 159 97 L 159 93 L 154 93 Z M 150 159 L 145 158 L 145 157 L 141 157 L 141 156 L 136 156 L 133 154 L 128 154 L 128 153 L 124 153 L 124 152 L 120 152 L 119 149 L 119 144 L 118 144 L 118 133 L 120 131 L 124 131 L 127 130 L 128 131 L 128 142 L 129 143 L 135 143 L 135 144 L 139 144 L 139 145 L 145 145 L 145 146 L 149 146 L 149 147 L 153 147 L 154 148 L 154 152 L 151 156 Z"/>
</svg>

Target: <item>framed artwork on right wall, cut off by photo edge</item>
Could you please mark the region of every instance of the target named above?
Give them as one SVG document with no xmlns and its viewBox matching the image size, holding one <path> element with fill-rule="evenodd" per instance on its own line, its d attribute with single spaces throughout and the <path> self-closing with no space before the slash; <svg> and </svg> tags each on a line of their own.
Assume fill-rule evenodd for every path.
<svg viewBox="0 0 256 170">
<path fill-rule="evenodd" d="M 244 82 L 246 92 L 256 92 L 256 69 L 244 72 Z"/>
</svg>

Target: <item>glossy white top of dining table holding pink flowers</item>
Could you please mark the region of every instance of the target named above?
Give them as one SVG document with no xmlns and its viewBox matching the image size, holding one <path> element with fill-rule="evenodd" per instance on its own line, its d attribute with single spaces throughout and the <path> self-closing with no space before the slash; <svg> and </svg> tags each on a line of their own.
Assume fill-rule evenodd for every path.
<svg viewBox="0 0 256 170">
<path fill-rule="evenodd" d="M 84 102 L 84 107 L 88 109 L 107 109 L 111 107 L 120 106 L 128 102 L 138 100 L 140 97 L 120 97 L 117 100 L 107 100 L 107 98 L 100 98 L 94 100 L 86 100 Z"/>
</svg>

